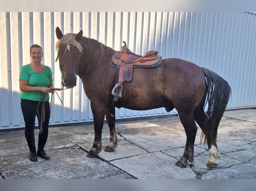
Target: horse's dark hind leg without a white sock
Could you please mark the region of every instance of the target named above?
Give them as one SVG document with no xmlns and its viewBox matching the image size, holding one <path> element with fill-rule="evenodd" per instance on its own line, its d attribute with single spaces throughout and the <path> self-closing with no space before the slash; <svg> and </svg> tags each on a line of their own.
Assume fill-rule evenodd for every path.
<svg viewBox="0 0 256 191">
<path fill-rule="evenodd" d="M 189 162 L 194 161 L 194 143 L 197 134 L 197 125 L 192 113 L 178 113 L 186 133 L 186 146 L 182 157 L 178 159 L 175 165 L 184 168 L 187 166 L 187 160 Z"/>
</svg>

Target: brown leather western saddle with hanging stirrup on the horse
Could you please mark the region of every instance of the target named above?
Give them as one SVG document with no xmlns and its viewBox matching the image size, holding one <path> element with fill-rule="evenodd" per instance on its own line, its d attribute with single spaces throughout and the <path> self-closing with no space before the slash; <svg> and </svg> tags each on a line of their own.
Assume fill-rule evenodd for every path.
<svg viewBox="0 0 256 191">
<path fill-rule="evenodd" d="M 126 42 L 123 41 L 123 43 L 121 51 L 115 52 L 109 62 L 112 67 L 118 69 L 116 85 L 111 92 L 115 101 L 122 97 L 123 83 L 132 80 L 133 68 L 154 68 L 162 62 L 162 57 L 157 55 L 158 51 L 151 50 L 143 56 L 137 55 L 128 49 Z"/>
</svg>

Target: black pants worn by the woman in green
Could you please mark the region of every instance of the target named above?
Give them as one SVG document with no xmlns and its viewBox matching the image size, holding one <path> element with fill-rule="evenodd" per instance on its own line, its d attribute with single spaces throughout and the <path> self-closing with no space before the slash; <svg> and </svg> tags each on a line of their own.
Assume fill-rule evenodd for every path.
<svg viewBox="0 0 256 191">
<path fill-rule="evenodd" d="M 39 101 L 32 101 L 28 99 L 21 99 L 21 110 L 25 121 L 25 137 L 28 147 L 31 149 L 35 147 L 34 127 L 35 116 L 37 116 L 38 123 L 40 125 L 40 116 L 37 115 L 37 105 Z M 38 107 L 39 113 L 42 111 L 42 102 Z M 50 104 L 49 101 L 44 102 L 45 119 L 42 124 L 43 131 L 38 134 L 38 150 L 43 150 L 48 137 L 48 125 L 50 120 Z"/>
</svg>

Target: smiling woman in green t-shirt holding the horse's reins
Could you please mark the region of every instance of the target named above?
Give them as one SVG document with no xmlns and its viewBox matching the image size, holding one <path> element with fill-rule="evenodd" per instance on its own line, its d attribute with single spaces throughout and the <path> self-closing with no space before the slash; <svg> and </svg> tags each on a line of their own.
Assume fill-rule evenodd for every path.
<svg viewBox="0 0 256 191">
<path fill-rule="evenodd" d="M 44 145 L 48 137 L 48 125 L 50 119 L 50 105 L 49 94 L 54 93 L 52 85 L 51 69 L 41 64 L 43 52 L 39 45 L 32 45 L 30 47 L 30 57 L 32 62 L 21 67 L 19 86 L 21 93 L 21 110 L 25 121 L 25 137 L 29 147 L 29 159 L 33 162 L 37 161 L 39 156 L 43 159 L 50 157 L 44 152 Z M 42 124 L 42 132 L 38 135 L 38 149 L 35 148 L 34 126 L 35 116 L 37 116 L 40 123 L 40 116 L 37 115 L 37 106 L 42 96 L 46 94 L 44 101 L 44 122 Z M 38 106 L 38 111 L 41 113 L 43 101 Z M 40 125 L 40 124 L 39 124 Z"/>
</svg>

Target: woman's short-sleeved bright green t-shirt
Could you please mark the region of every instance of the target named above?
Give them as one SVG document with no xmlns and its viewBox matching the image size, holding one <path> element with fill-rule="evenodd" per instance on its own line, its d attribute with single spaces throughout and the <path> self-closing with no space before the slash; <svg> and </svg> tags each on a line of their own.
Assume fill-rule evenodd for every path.
<svg viewBox="0 0 256 191">
<path fill-rule="evenodd" d="M 53 81 L 51 69 L 48 66 L 44 66 L 44 72 L 37 73 L 32 70 L 29 64 L 21 67 L 19 80 L 27 80 L 28 85 L 34 87 L 48 87 L 50 82 Z M 43 94 L 43 92 L 22 92 L 20 97 L 22 99 L 40 101 Z M 44 101 L 48 100 L 49 94 L 46 94 Z"/>
</svg>

